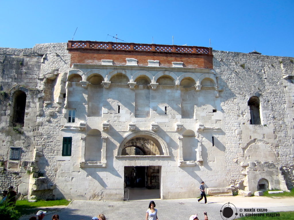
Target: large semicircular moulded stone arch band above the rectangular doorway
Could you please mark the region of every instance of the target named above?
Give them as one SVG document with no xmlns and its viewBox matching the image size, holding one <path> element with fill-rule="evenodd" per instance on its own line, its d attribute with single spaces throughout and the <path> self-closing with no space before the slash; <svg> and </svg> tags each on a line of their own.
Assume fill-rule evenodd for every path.
<svg viewBox="0 0 294 220">
<path fill-rule="evenodd" d="M 146 138 L 151 140 L 157 146 L 160 155 L 169 156 L 169 150 L 166 142 L 156 133 L 148 130 L 135 131 L 127 134 L 125 138 L 123 138 L 121 144 L 118 146 L 116 155 L 121 156 L 122 150 L 125 148 L 126 144 L 135 138 Z"/>
</svg>

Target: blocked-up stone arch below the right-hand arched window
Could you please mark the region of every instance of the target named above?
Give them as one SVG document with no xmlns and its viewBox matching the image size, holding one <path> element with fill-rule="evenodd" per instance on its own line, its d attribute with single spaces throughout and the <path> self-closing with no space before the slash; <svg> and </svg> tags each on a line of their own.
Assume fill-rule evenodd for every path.
<svg viewBox="0 0 294 220">
<path fill-rule="evenodd" d="M 276 162 L 277 157 L 274 147 L 272 147 L 266 141 L 256 140 L 253 143 L 249 143 L 248 147 L 244 149 L 244 161 L 270 161 Z"/>
</svg>

